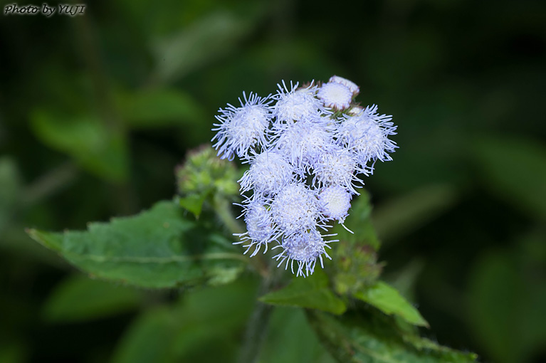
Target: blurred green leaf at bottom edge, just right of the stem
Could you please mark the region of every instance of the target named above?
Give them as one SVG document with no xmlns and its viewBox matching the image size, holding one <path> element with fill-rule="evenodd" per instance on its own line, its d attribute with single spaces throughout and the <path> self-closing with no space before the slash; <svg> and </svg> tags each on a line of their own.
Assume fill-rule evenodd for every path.
<svg viewBox="0 0 546 363">
<path fill-rule="evenodd" d="M 259 362 L 335 363 L 310 328 L 303 310 L 275 307 L 268 329 Z"/>
</svg>

